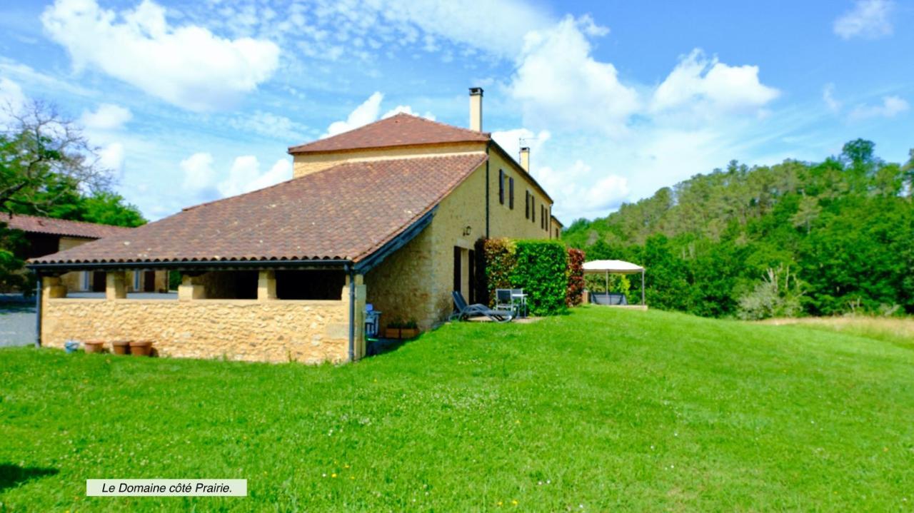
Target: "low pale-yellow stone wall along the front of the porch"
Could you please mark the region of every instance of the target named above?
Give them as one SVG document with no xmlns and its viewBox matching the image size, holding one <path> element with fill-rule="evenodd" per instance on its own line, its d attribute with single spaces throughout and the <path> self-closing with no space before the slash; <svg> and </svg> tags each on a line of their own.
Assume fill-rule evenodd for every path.
<svg viewBox="0 0 914 513">
<path fill-rule="evenodd" d="M 349 303 L 256 299 L 77 299 L 48 294 L 43 346 L 66 340 L 152 340 L 162 356 L 240 361 L 342 362 Z"/>
</svg>

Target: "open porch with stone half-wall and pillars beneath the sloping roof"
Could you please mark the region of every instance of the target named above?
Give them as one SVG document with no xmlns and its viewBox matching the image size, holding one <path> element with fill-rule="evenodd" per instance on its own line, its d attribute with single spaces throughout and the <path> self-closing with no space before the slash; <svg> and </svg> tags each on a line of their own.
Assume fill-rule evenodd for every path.
<svg viewBox="0 0 914 513">
<path fill-rule="evenodd" d="M 61 277 L 73 265 L 35 266 L 37 343 L 63 348 L 69 340 L 101 341 L 110 348 L 115 340 L 149 340 L 161 356 L 237 361 L 343 362 L 365 355 L 366 287 L 347 263 L 202 264 L 160 265 L 180 272 L 177 292 L 139 295 L 128 288 L 131 267 L 80 269 L 104 273 L 104 292 L 71 295 Z"/>
</svg>

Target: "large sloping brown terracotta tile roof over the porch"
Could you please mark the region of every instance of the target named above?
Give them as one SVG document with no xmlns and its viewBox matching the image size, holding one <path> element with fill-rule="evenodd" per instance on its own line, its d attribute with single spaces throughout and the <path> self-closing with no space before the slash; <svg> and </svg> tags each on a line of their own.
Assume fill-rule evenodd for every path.
<svg viewBox="0 0 914 513">
<path fill-rule="evenodd" d="M 485 159 L 479 152 L 343 163 L 30 262 L 358 262 L 428 213 Z"/>
</svg>

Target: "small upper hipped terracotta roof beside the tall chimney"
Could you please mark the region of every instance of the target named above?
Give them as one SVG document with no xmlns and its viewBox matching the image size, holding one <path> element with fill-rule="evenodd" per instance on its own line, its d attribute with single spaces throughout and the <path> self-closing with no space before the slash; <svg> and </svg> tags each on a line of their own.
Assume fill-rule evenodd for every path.
<svg viewBox="0 0 914 513">
<path fill-rule="evenodd" d="M 438 121 L 426 120 L 419 116 L 400 113 L 333 137 L 292 146 L 289 148 L 289 152 L 292 154 L 340 152 L 413 144 L 485 142 L 490 139 L 489 132 L 462 129 Z"/>
</svg>

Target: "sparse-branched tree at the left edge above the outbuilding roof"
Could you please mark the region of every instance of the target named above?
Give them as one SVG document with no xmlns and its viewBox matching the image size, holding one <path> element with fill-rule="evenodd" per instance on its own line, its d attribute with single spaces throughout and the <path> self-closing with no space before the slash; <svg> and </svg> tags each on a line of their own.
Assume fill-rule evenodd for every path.
<svg viewBox="0 0 914 513">
<path fill-rule="evenodd" d="M 53 105 L 33 100 L 19 110 L 6 107 L 5 114 L 11 121 L 0 134 L 0 212 L 18 207 L 47 215 L 74 188 L 111 185 L 111 171 L 98 165 L 80 127 Z"/>
</svg>

